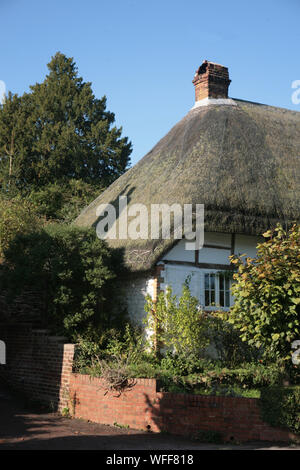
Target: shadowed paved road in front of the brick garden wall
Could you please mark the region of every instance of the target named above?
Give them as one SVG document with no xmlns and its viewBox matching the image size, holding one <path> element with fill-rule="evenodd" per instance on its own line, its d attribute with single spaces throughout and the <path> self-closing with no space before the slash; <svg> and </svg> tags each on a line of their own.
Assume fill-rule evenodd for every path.
<svg viewBox="0 0 300 470">
<path fill-rule="evenodd" d="M 214 445 L 168 434 L 152 434 L 63 418 L 27 409 L 0 384 L 0 449 L 2 450 L 300 450 L 300 446 L 253 443 Z"/>
</svg>

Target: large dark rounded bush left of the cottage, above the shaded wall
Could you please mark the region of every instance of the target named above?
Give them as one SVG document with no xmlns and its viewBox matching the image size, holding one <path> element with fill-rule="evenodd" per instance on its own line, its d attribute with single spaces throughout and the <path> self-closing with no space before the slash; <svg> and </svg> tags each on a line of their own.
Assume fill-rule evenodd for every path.
<svg viewBox="0 0 300 470">
<path fill-rule="evenodd" d="M 114 311 L 121 257 L 93 229 L 49 224 L 20 234 L 5 251 L 0 288 L 13 301 L 30 287 L 42 303 L 41 321 L 71 340 L 99 335 L 121 311 Z"/>
</svg>

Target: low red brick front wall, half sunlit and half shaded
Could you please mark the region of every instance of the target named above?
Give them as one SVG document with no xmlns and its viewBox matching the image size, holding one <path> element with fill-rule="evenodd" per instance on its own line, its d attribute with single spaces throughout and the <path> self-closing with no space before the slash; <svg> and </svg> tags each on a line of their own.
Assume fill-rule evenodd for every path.
<svg viewBox="0 0 300 470">
<path fill-rule="evenodd" d="M 101 379 L 72 374 L 70 397 L 73 416 L 97 423 L 192 436 L 212 430 L 239 442 L 293 437 L 261 420 L 256 399 L 162 393 L 156 391 L 155 379 L 137 379 L 119 395 L 106 393 Z"/>
</svg>

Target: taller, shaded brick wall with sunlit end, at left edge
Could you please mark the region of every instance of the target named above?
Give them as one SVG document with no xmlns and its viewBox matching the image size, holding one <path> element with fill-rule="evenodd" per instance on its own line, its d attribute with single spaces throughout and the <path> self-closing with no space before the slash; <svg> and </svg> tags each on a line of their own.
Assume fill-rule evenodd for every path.
<svg viewBox="0 0 300 470">
<path fill-rule="evenodd" d="M 6 344 L 6 365 L 0 365 L 0 377 L 53 409 L 68 406 L 73 344 L 26 324 L 0 324 L 0 339 Z"/>
</svg>

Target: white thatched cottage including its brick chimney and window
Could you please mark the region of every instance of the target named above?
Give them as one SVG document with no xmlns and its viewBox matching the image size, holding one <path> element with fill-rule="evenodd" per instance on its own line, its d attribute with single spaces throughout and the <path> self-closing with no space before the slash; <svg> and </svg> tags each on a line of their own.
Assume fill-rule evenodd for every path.
<svg viewBox="0 0 300 470">
<path fill-rule="evenodd" d="M 300 113 L 228 97 L 226 67 L 204 61 L 193 79 L 195 105 L 134 167 L 78 217 L 96 227 L 97 207 L 126 196 L 134 204 L 204 204 L 204 245 L 185 240 L 108 239 L 124 249 L 131 276 L 123 280 L 132 318 L 171 285 L 192 275 L 192 293 L 206 309 L 229 308 L 229 256 L 254 256 L 260 235 L 278 221 L 300 219 Z M 122 224 L 122 214 L 118 215 Z M 174 226 L 173 226 L 174 230 Z"/>
</svg>

